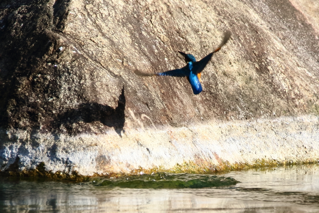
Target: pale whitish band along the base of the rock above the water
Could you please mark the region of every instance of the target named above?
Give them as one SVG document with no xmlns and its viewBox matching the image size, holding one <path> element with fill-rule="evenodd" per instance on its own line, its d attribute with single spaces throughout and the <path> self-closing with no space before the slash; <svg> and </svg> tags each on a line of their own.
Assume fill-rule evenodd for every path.
<svg viewBox="0 0 319 213">
<path fill-rule="evenodd" d="M 1 168 L 23 174 L 42 164 L 61 177 L 90 177 L 318 163 L 318 128 L 319 117 L 300 116 L 139 128 L 122 137 L 114 130 L 77 136 L 11 132 L 0 148 Z"/>
</svg>

